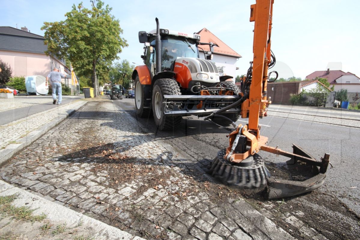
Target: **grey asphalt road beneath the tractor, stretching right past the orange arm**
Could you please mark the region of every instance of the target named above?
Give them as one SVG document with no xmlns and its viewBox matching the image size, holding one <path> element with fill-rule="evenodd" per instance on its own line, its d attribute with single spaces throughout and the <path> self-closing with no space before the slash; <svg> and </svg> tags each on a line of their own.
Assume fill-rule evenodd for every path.
<svg viewBox="0 0 360 240">
<path fill-rule="evenodd" d="M 173 146 L 176 145 L 176 139 L 179 139 L 186 144 L 198 145 L 199 151 L 215 157 L 217 151 L 228 145 L 226 137 L 228 131 L 195 116 L 184 117 L 176 131 L 163 132 L 154 127 L 152 118 L 136 117 L 134 99 L 124 98 L 113 102 L 128 110 L 134 117 L 134 122 L 140 121 L 144 124 L 146 131 L 153 133 L 154 138 L 168 139 Z M 326 109 L 323 111 L 318 109 L 317 113 L 327 114 Z M 239 119 L 237 123 L 246 124 L 246 121 L 247 119 Z M 271 117 L 271 106 L 269 116 L 260 119 L 260 124 L 261 135 L 269 138 L 267 144 L 269 146 L 278 146 L 282 150 L 292 152 L 292 143 L 294 143 L 318 160 L 324 156 L 324 153 L 330 154 L 333 168 L 329 166 L 325 184 L 316 191 L 336 196 L 352 212 L 360 216 L 359 128 Z M 263 151 L 260 155 L 266 162 L 284 163 L 288 160 L 286 157 L 276 157 Z"/>
</svg>

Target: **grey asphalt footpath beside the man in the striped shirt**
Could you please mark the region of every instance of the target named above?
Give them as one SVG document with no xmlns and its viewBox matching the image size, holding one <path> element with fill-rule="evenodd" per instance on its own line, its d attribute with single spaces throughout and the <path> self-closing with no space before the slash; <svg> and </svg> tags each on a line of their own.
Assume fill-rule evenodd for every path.
<svg viewBox="0 0 360 240">
<path fill-rule="evenodd" d="M 51 95 L 50 96 L 17 96 L 16 98 L 17 98 L 17 100 L 24 101 L 24 103 L 26 103 L 27 99 L 32 99 L 32 100 L 33 99 L 49 99 L 49 101 L 45 102 L 45 103 L 43 103 L 41 101 L 41 103 L 39 103 L 39 104 L 34 104 L 34 105 L 23 107 L 23 108 L 14 108 L 12 110 L 7 110 L 4 112 L 1 112 L 0 126 L 4 125 L 6 123 L 9 123 L 9 122 L 16 121 L 21 118 L 26 118 L 35 113 L 44 112 L 46 110 L 57 107 L 56 104 L 55 105 L 53 104 Z M 62 104 L 67 104 L 67 103 L 70 103 L 71 101 L 75 101 L 75 100 L 82 99 L 82 98 L 84 98 L 83 95 L 77 96 L 76 98 L 74 98 L 74 97 L 69 98 L 67 96 L 63 96 Z"/>
</svg>

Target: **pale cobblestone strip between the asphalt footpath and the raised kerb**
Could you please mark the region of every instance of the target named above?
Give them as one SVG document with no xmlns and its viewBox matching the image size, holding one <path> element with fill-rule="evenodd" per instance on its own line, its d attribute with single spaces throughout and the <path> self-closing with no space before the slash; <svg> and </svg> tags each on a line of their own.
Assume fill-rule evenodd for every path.
<svg viewBox="0 0 360 240">
<path fill-rule="evenodd" d="M 47 100 L 49 101 L 49 99 Z M 9 144 L 17 144 L 20 139 L 26 138 L 28 133 L 36 130 L 37 128 L 43 126 L 46 123 L 49 123 L 54 119 L 60 118 L 79 104 L 83 104 L 83 102 L 74 101 L 70 104 L 59 105 L 55 109 L 49 109 L 44 112 L 32 114 L 17 121 L 1 125 L 0 149 L 4 149 Z"/>
</svg>

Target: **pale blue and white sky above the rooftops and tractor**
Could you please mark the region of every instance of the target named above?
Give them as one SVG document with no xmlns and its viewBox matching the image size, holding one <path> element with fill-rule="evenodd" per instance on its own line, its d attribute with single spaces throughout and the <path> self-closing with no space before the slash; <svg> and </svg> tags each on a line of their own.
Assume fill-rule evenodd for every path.
<svg viewBox="0 0 360 240">
<path fill-rule="evenodd" d="M 0 26 L 24 27 L 44 35 L 43 22 L 64 20 L 72 4 L 80 1 L 1 0 Z M 245 74 L 252 60 L 253 23 L 250 5 L 255 0 L 237 1 L 114 1 L 105 0 L 120 20 L 122 37 L 129 47 L 120 60 L 141 64 L 143 44 L 139 31 L 160 26 L 193 33 L 206 27 L 233 50 L 242 55 L 237 74 Z M 84 5 L 90 7 L 90 1 Z M 356 0 L 275 0 L 272 46 L 280 77 L 301 77 L 325 70 L 328 63 L 360 76 L 360 1 Z M 17 24 L 17 25 L 16 25 Z M 332 68 L 335 70 L 335 68 Z"/>
</svg>

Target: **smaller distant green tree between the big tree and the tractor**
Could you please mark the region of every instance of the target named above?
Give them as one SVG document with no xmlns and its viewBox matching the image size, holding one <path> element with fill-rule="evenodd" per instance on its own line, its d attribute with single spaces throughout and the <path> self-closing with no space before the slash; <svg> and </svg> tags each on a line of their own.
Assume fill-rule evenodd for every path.
<svg viewBox="0 0 360 240">
<path fill-rule="evenodd" d="M 112 84 L 121 84 L 125 89 L 129 89 L 131 87 L 131 75 L 134 67 L 134 65 L 130 65 L 128 60 L 114 63 L 109 72 L 109 81 Z"/>
</svg>

